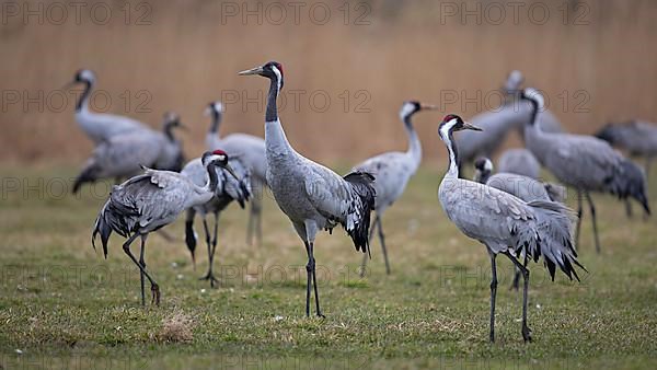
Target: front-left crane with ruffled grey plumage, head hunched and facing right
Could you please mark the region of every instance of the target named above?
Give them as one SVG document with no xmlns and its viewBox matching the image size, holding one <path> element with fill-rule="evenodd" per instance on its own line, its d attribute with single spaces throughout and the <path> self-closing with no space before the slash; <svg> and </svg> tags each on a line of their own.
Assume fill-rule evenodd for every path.
<svg viewBox="0 0 657 370">
<path fill-rule="evenodd" d="M 203 186 L 177 172 L 145 169 L 143 174 L 114 186 L 95 220 L 92 245 L 95 248 L 95 238 L 100 234 L 105 258 L 112 232 L 127 239 L 123 250 L 139 268 L 142 305 L 146 304 L 145 277 L 151 284 L 151 304 L 160 304 L 160 288 L 146 270 L 145 246 L 148 234 L 173 222 L 185 209 L 204 205 L 215 196 L 218 184 L 215 166 L 227 170 L 237 178 L 228 164 L 228 155 L 222 150 L 204 153 L 201 162 L 208 174 L 208 182 Z M 139 236 L 141 251 L 137 261 L 130 252 L 130 244 Z"/>
</svg>

